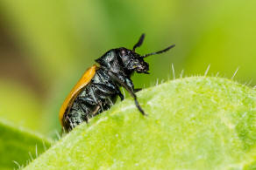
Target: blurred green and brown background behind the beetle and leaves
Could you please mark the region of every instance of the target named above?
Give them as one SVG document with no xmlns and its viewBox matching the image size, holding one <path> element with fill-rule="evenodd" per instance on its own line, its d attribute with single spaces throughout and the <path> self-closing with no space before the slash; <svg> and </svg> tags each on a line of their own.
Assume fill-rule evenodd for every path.
<svg viewBox="0 0 256 170">
<path fill-rule="evenodd" d="M 141 54 L 176 47 L 146 60 L 151 75 L 134 75 L 136 87 L 157 79 L 202 75 L 256 83 L 255 0 L 1 0 L 0 118 L 54 136 L 60 105 L 82 73 L 105 51 Z"/>
</svg>

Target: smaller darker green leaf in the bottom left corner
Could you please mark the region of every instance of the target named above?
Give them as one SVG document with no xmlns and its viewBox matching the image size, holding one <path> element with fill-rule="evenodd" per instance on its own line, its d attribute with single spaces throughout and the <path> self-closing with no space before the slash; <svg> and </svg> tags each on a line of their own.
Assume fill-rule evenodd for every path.
<svg viewBox="0 0 256 170">
<path fill-rule="evenodd" d="M 24 167 L 51 145 L 49 139 L 12 126 L 1 119 L 0 134 L 0 169 L 3 170 Z"/>
</svg>

